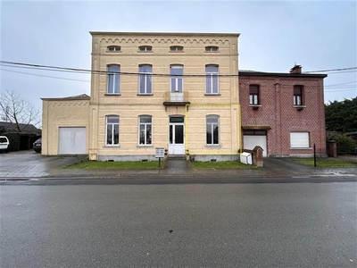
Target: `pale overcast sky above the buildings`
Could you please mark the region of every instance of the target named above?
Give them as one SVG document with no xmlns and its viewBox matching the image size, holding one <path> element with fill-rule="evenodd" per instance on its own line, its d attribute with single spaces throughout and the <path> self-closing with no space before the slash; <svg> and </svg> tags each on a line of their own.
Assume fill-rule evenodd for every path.
<svg viewBox="0 0 357 268">
<path fill-rule="evenodd" d="M 93 30 L 240 33 L 240 70 L 357 66 L 356 1 L 0 0 L 0 9 L 1 61 L 90 69 Z M 41 97 L 90 93 L 88 74 L 0 69 L 0 90 L 15 90 L 38 108 Z M 326 103 L 357 95 L 356 70 L 323 73 Z"/>
</svg>

